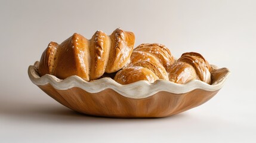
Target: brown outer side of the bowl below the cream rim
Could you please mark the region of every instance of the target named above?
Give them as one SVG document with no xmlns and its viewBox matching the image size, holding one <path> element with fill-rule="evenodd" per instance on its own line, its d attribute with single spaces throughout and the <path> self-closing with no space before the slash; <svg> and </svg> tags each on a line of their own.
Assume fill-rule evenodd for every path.
<svg viewBox="0 0 256 143">
<path fill-rule="evenodd" d="M 49 83 L 38 86 L 60 104 L 79 113 L 121 118 L 171 116 L 203 104 L 219 91 L 195 89 L 184 94 L 160 91 L 147 98 L 134 99 L 124 97 L 113 89 L 90 93 L 77 87 L 58 90 Z"/>
</svg>

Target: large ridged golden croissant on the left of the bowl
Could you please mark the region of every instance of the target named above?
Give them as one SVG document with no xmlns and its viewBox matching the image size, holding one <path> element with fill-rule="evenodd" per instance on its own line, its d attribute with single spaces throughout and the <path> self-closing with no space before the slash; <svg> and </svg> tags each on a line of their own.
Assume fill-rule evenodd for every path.
<svg viewBox="0 0 256 143">
<path fill-rule="evenodd" d="M 90 40 L 74 33 L 60 45 L 50 42 L 42 54 L 40 76 L 53 74 L 65 79 L 77 75 L 86 81 L 113 73 L 127 64 L 134 48 L 132 32 L 116 29 L 110 36 L 97 31 Z"/>
</svg>

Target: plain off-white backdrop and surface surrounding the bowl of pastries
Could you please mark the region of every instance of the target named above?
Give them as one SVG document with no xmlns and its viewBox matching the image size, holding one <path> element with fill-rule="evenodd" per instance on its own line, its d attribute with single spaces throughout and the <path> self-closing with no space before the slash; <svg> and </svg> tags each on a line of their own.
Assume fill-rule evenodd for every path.
<svg viewBox="0 0 256 143">
<path fill-rule="evenodd" d="M 0 142 L 256 142 L 256 1 L 0 1 L 0 21 Z M 84 116 L 30 82 L 50 41 L 117 27 L 232 74 L 212 100 L 161 119 Z"/>
</svg>

